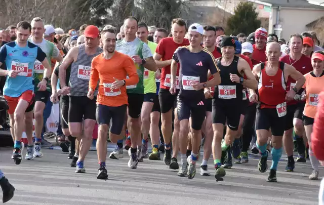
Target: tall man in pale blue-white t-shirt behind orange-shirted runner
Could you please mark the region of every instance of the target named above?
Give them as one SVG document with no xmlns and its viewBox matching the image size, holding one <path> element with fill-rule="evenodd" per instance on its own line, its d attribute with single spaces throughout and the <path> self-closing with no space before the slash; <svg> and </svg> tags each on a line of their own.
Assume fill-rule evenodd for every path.
<svg viewBox="0 0 324 205">
<path fill-rule="evenodd" d="M 131 134 L 131 149 L 129 149 L 130 160 L 128 166 L 137 168 L 138 158 L 141 153 L 141 124 L 140 115 L 144 100 L 144 67 L 156 71 L 156 65 L 152 53 L 147 44 L 136 37 L 138 20 L 135 17 L 127 17 L 124 20 L 125 38 L 116 42 L 116 51 L 130 56 L 136 63 L 139 82 L 136 85 L 127 86 L 128 95 L 128 117 L 127 128 Z M 123 141 L 117 142 L 116 149 L 110 154 L 110 158 L 118 159 L 123 155 Z"/>
</svg>

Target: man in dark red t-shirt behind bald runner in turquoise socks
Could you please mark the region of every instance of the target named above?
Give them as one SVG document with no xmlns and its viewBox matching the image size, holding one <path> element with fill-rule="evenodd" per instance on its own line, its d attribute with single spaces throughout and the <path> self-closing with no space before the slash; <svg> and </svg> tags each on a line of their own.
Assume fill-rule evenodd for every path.
<svg viewBox="0 0 324 205">
<path fill-rule="evenodd" d="M 292 65 L 300 73 L 305 75 L 311 72 L 312 64 L 310 58 L 302 54 L 303 37 L 299 34 L 293 34 L 289 40 L 290 54 L 280 58 L 280 61 Z M 289 92 L 295 87 L 295 80 L 291 77 L 288 78 L 286 91 Z M 295 89 L 295 92 L 296 89 Z M 284 133 L 284 147 L 288 156 L 288 162 L 286 166 L 287 172 L 293 172 L 295 169 L 295 160 L 293 157 L 294 143 L 293 143 L 293 128 L 297 141 L 298 162 L 306 162 L 305 156 L 305 144 L 303 137 L 305 136 L 305 129 L 302 121 L 302 113 L 305 107 L 305 102 L 298 102 L 291 100 L 287 102 L 287 116 L 286 127 Z M 306 136 L 305 136 L 306 137 Z"/>
</svg>

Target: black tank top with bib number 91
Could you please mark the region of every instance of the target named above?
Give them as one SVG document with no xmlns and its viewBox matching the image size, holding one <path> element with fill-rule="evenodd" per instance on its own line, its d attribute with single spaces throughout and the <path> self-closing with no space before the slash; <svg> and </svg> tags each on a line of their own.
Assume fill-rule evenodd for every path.
<svg viewBox="0 0 324 205">
<path fill-rule="evenodd" d="M 238 77 L 242 77 L 242 75 L 237 71 L 239 57 L 234 56 L 234 59 L 229 66 L 223 66 L 221 64 L 222 58 L 223 57 L 217 59 L 217 66 L 220 69 L 219 74 L 222 81 L 220 85 L 215 86 L 214 98 L 217 99 L 217 101 L 239 103 L 242 101 L 243 86 L 241 84 L 233 83 L 229 75 L 229 73 L 231 73 L 238 75 Z"/>
</svg>

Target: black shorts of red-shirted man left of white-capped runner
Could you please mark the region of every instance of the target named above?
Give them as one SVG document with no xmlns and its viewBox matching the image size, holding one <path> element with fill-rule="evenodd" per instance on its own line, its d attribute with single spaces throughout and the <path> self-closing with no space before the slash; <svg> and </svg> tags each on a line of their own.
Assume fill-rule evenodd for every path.
<svg viewBox="0 0 324 205">
<path fill-rule="evenodd" d="M 160 88 L 158 92 L 158 101 L 160 103 L 161 113 L 169 112 L 172 108 L 177 107 L 177 96 L 179 90 L 174 95 L 171 95 L 169 89 Z"/>
</svg>

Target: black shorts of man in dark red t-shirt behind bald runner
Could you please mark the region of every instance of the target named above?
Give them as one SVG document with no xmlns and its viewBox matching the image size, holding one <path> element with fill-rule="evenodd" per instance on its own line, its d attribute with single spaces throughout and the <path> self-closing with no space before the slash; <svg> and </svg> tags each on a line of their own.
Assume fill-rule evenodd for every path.
<svg viewBox="0 0 324 205">
<path fill-rule="evenodd" d="M 287 105 L 286 114 L 286 130 L 290 130 L 294 127 L 294 118 L 302 119 L 303 111 L 305 108 L 305 102 L 299 102 L 298 104 Z"/>
</svg>

